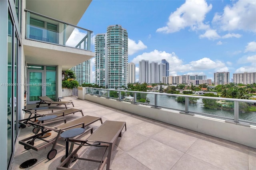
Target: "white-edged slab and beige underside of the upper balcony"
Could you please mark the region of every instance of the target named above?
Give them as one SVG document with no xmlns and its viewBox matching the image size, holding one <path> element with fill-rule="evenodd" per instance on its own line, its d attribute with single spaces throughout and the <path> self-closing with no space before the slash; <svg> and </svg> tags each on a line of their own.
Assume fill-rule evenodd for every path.
<svg viewBox="0 0 256 170">
<path fill-rule="evenodd" d="M 95 53 L 81 49 L 52 45 L 31 40 L 23 43 L 25 61 L 28 64 L 58 65 L 66 71 L 94 57 Z"/>
</svg>

